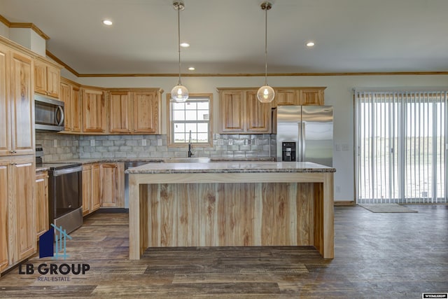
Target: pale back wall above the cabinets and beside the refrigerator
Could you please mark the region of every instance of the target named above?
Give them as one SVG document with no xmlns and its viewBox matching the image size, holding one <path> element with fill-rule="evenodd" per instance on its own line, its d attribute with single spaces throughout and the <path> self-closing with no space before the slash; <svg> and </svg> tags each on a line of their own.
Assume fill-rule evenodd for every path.
<svg viewBox="0 0 448 299">
<path fill-rule="evenodd" d="M 358 87 L 441 87 L 448 88 L 448 75 L 431 76 L 279 76 L 269 77 L 269 85 L 281 86 L 326 86 L 325 104 L 334 106 L 334 149 L 333 166 L 335 174 L 335 200 L 354 200 L 353 162 L 353 88 Z M 162 115 L 166 116 L 166 93 L 177 83 L 174 77 L 137 78 L 78 78 L 78 83 L 100 87 L 162 88 Z M 190 93 L 213 92 L 215 107 L 218 107 L 216 88 L 257 87 L 264 83 L 261 77 L 185 77 L 182 78 Z M 215 120 L 218 110 L 214 110 Z M 216 127 L 217 123 L 215 124 Z M 166 130 L 166 129 L 165 129 Z M 166 132 L 166 131 L 164 131 Z M 337 151 L 336 151 L 337 148 Z M 348 151 L 342 151 L 348 148 Z"/>
</svg>

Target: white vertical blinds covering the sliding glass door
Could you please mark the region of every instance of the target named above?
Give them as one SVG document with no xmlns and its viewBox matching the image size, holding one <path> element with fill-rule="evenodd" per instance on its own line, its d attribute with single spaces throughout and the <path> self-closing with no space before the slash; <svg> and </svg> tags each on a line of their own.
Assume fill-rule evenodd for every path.
<svg viewBox="0 0 448 299">
<path fill-rule="evenodd" d="M 358 203 L 447 203 L 447 96 L 355 90 Z"/>
</svg>

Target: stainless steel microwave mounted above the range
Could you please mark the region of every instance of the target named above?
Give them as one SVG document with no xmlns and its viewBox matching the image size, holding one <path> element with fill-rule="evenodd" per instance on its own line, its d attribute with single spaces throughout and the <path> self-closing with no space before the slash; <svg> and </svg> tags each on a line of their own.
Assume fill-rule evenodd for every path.
<svg viewBox="0 0 448 299">
<path fill-rule="evenodd" d="M 64 131 L 64 102 L 35 94 L 34 125 L 38 131 Z"/>
</svg>

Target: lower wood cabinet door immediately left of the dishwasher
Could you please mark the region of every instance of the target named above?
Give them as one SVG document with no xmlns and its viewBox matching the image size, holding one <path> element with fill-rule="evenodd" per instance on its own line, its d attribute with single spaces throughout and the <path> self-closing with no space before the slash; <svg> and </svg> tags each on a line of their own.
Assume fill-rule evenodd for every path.
<svg viewBox="0 0 448 299">
<path fill-rule="evenodd" d="M 116 163 L 102 163 L 100 171 L 101 207 L 117 207 L 117 165 Z"/>
</svg>

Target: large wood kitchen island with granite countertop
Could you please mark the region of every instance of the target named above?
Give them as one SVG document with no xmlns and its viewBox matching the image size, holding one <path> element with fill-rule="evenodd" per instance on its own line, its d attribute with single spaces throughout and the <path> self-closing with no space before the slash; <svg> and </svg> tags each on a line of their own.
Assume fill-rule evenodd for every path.
<svg viewBox="0 0 448 299">
<path fill-rule="evenodd" d="M 130 259 L 160 246 L 314 246 L 333 258 L 334 172 L 312 162 L 128 169 Z"/>
</svg>

